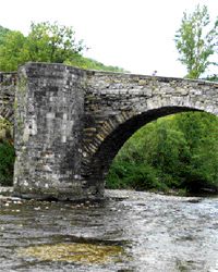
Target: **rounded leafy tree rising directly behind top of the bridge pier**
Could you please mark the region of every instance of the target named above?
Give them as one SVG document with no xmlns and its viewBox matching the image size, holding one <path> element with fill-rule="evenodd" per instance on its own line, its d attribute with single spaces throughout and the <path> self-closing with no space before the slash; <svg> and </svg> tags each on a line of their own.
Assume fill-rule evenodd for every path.
<svg viewBox="0 0 218 272">
<path fill-rule="evenodd" d="M 72 27 L 57 23 L 32 23 L 26 48 L 32 61 L 63 63 L 85 48 L 83 41 L 76 42 Z"/>
</svg>

